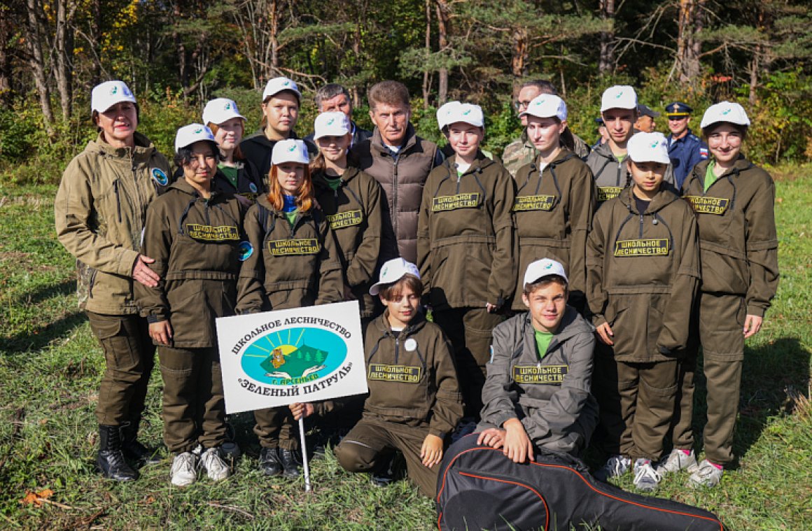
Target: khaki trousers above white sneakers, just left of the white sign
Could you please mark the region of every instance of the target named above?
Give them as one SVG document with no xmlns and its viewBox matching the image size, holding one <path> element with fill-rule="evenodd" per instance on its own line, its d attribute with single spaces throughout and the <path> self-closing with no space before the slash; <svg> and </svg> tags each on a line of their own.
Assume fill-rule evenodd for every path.
<svg viewBox="0 0 812 531">
<path fill-rule="evenodd" d="M 173 453 L 226 442 L 226 403 L 216 347 L 158 348 L 163 376 L 163 441 Z"/>
</svg>

